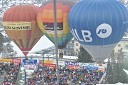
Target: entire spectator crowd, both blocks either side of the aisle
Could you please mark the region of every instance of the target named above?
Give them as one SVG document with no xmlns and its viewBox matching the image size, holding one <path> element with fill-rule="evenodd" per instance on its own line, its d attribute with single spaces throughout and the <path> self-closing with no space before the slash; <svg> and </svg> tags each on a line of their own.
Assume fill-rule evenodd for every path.
<svg viewBox="0 0 128 85">
<path fill-rule="evenodd" d="M 16 85 L 20 65 L 3 64 L 0 72 L 5 72 L 3 85 Z M 43 71 L 44 70 L 44 71 Z M 96 85 L 101 79 L 103 71 L 88 69 L 59 69 L 59 85 Z M 42 67 L 34 71 L 30 78 L 26 79 L 26 85 L 56 85 L 57 74 L 55 68 Z"/>
</svg>

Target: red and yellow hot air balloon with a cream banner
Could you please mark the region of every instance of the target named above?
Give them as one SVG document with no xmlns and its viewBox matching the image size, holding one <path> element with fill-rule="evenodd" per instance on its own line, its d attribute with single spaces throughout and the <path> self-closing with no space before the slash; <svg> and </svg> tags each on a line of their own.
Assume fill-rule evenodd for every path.
<svg viewBox="0 0 128 85">
<path fill-rule="evenodd" d="M 25 56 L 41 38 L 34 5 L 18 5 L 9 8 L 3 16 L 3 26 L 8 36 L 20 48 Z"/>
</svg>

